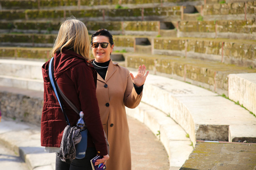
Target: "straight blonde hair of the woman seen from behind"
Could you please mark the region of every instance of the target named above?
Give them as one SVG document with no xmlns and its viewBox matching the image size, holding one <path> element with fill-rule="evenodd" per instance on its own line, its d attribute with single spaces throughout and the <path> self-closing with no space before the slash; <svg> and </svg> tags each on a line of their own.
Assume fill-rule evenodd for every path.
<svg viewBox="0 0 256 170">
<path fill-rule="evenodd" d="M 51 56 L 62 52 L 62 48 L 72 49 L 75 53 L 89 60 L 90 40 L 85 24 L 74 17 L 63 21 L 54 41 Z"/>
</svg>

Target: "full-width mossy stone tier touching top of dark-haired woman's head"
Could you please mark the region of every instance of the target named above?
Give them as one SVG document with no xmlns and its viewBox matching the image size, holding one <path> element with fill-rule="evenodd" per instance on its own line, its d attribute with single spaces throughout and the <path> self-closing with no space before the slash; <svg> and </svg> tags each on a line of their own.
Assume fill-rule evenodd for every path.
<svg viewBox="0 0 256 170">
<path fill-rule="evenodd" d="M 194 14 L 189 14 L 194 15 Z M 0 21 L 2 33 L 57 34 L 60 21 Z M 90 34 L 104 28 L 112 35 L 198 37 L 255 40 L 254 20 L 193 21 L 86 21 Z"/>
</svg>

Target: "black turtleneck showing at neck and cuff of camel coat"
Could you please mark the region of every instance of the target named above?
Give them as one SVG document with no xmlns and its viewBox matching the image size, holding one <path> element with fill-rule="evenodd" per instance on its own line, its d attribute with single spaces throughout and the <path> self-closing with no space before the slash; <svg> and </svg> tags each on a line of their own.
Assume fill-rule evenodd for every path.
<svg viewBox="0 0 256 170">
<path fill-rule="evenodd" d="M 103 80 L 105 80 L 105 77 L 106 77 L 106 74 L 107 74 L 107 71 L 108 71 L 109 62 L 110 62 L 110 60 L 105 62 L 105 63 L 98 63 L 98 62 L 95 62 L 95 60 L 93 60 L 93 62 L 92 62 L 92 65 L 94 66 L 94 69 L 100 74 L 100 76 L 102 77 Z M 141 87 L 137 87 L 133 83 L 135 91 L 137 92 L 138 95 L 141 94 L 141 91 L 143 90 L 143 85 Z"/>
</svg>

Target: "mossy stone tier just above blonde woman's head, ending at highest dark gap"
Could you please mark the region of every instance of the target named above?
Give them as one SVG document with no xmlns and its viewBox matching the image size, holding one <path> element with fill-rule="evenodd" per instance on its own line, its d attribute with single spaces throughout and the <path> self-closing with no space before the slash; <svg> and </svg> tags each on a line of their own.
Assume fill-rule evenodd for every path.
<svg viewBox="0 0 256 170">
<path fill-rule="evenodd" d="M 143 9 L 143 10 L 142 10 Z M 121 9 L 85 9 L 85 10 L 2 10 L 0 20 L 63 20 L 75 16 L 81 21 L 179 21 L 182 6 L 121 8 Z"/>
</svg>

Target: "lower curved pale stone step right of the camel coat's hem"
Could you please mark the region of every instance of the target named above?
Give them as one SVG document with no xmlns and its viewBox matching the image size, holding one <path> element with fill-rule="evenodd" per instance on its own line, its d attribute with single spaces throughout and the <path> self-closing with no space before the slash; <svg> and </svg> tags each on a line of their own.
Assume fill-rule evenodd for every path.
<svg viewBox="0 0 256 170">
<path fill-rule="evenodd" d="M 171 167 L 181 167 L 185 163 L 193 146 L 186 132 L 171 117 L 145 103 L 135 109 L 126 108 L 126 113 L 148 126 L 163 143 Z"/>
</svg>

